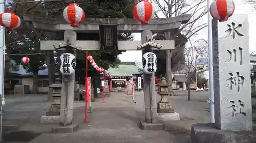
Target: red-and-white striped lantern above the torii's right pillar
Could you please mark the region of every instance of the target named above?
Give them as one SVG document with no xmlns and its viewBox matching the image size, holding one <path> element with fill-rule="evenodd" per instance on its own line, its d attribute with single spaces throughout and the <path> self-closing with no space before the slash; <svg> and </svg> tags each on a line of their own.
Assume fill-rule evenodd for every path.
<svg viewBox="0 0 256 143">
<path fill-rule="evenodd" d="M 133 7 L 135 19 L 141 24 L 148 24 L 148 21 L 154 17 L 155 9 L 148 0 L 140 0 L 138 4 Z"/>
</svg>

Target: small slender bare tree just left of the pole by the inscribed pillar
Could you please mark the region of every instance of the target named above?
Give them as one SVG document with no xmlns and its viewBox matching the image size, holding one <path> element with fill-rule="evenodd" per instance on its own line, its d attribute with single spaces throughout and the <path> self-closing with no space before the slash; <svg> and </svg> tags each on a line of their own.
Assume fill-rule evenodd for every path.
<svg viewBox="0 0 256 143">
<path fill-rule="evenodd" d="M 196 42 L 192 43 L 190 40 L 189 47 L 185 48 L 184 55 L 186 59 L 186 78 L 187 78 L 187 84 L 188 84 L 188 95 L 187 100 L 190 101 L 190 84 L 193 81 L 196 81 L 197 79 L 197 60 L 200 55 L 207 52 L 207 41 L 204 39 L 199 39 Z M 197 82 L 197 81 L 196 81 Z"/>
</svg>

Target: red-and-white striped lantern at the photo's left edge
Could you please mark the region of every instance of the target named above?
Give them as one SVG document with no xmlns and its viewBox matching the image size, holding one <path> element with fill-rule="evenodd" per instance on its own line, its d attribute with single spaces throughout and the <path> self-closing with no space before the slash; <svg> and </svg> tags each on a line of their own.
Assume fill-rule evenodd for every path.
<svg viewBox="0 0 256 143">
<path fill-rule="evenodd" d="M 13 28 L 19 27 L 20 18 L 12 12 L 4 12 L 0 14 L 0 25 L 12 30 Z"/>
</svg>

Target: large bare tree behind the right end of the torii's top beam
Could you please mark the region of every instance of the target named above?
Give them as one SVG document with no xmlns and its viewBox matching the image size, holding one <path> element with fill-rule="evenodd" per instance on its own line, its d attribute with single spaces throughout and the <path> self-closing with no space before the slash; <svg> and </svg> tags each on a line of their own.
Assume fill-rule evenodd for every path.
<svg viewBox="0 0 256 143">
<path fill-rule="evenodd" d="M 184 46 L 187 39 L 197 34 L 200 30 L 207 26 L 207 23 L 201 18 L 207 13 L 206 0 L 152 0 L 157 5 L 155 16 L 160 18 L 164 15 L 165 18 L 182 16 L 191 14 L 190 20 L 182 24 L 177 32 L 158 33 L 155 39 L 158 40 L 175 40 L 175 50 L 164 50 L 158 53 L 158 57 L 162 57 L 161 61 L 166 61 L 165 77 L 167 83 L 172 85 L 172 72 L 181 70 L 184 65 Z M 162 17 L 161 17 L 162 18 Z M 171 62 L 172 61 L 172 62 Z M 173 67 L 176 67 L 174 69 Z M 177 68 L 179 67 L 179 68 Z M 169 91 L 173 93 L 172 86 Z"/>
</svg>

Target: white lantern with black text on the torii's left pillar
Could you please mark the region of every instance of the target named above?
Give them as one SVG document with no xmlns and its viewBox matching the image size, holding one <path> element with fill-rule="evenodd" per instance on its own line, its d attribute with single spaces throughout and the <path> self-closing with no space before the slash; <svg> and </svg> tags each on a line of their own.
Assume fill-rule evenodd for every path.
<svg viewBox="0 0 256 143">
<path fill-rule="evenodd" d="M 60 55 L 60 73 L 63 75 L 75 74 L 76 59 L 72 53 L 62 53 Z"/>
</svg>

